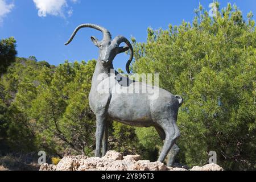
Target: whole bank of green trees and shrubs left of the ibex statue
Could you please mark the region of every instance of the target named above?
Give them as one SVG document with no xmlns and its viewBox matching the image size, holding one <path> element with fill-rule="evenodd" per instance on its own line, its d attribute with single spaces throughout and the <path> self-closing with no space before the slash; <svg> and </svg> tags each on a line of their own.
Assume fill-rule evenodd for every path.
<svg viewBox="0 0 256 182">
<path fill-rule="evenodd" d="M 7 141 L 14 151 L 91 155 L 94 114 L 88 94 L 95 61 L 55 68 L 46 61 L 17 58 L 1 79 L 0 111 L 7 113 Z M 1 130 L 2 131 L 2 130 Z"/>
</svg>

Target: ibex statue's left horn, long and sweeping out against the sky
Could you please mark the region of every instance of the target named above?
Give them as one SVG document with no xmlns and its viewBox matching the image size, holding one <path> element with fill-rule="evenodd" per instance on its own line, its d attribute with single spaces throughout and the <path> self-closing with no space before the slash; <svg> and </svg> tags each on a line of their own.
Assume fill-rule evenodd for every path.
<svg viewBox="0 0 256 182">
<path fill-rule="evenodd" d="M 65 43 L 66 46 L 69 43 L 72 42 L 73 38 L 76 36 L 76 33 L 80 30 L 80 28 L 94 28 L 94 29 L 99 30 L 103 33 L 103 40 L 111 40 L 112 39 L 112 36 L 111 36 L 110 32 L 106 28 L 98 26 L 97 24 L 87 23 L 87 24 L 81 24 L 80 26 L 78 26 L 76 28 L 76 30 L 73 32 L 71 38 L 68 40 L 67 43 Z"/>
</svg>

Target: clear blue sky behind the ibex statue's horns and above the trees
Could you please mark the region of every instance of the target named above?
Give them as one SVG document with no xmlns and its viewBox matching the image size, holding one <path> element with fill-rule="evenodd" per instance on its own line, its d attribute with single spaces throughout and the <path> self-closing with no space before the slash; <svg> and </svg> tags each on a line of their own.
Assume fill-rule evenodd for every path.
<svg viewBox="0 0 256 182">
<path fill-rule="evenodd" d="M 0 0 L 0 39 L 14 36 L 18 56 L 33 55 L 50 64 L 97 59 L 98 49 L 90 42 L 90 36 L 101 39 L 96 30 L 83 29 L 69 46 L 64 46 L 79 24 L 99 24 L 108 28 L 113 37 L 134 36 L 144 42 L 147 27 L 166 29 L 168 24 L 179 25 L 182 20 L 192 22 L 199 2 L 209 10 L 213 1 Z M 221 7 L 236 3 L 244 16 L 250 11 L 256 14 L 255 0 L 218 2 Z M 114 67 L 124 70 L 127 59 L 125 54 L 118 55 Z"/>
</svg>

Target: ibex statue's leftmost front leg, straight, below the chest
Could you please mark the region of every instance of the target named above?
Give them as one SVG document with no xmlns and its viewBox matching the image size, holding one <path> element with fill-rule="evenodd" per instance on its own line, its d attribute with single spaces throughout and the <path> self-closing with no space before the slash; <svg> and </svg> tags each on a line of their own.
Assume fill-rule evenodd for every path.
<svg viewBox="0 0 256 182">
<path fill-rule="evenodd" d="M 104 136 L 105 126 L 106 126 L 106 118 L 102 115 L 96 115 L 96 150 L 95 156 L 101 157 L 101 146 L 102 146 L 102 139 Z"/>
</svg>

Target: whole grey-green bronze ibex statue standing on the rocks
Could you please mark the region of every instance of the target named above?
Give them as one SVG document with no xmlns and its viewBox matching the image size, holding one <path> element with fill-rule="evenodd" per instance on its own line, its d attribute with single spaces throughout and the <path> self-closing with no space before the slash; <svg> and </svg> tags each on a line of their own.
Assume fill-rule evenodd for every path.
<svg viewBox="0 0 256 182">
<path fill-rule="evenodd" d="M 65 45 L 71 43 L 80 28 L 85 27 L 94 28 L 103 33 L 103 39 L 101 41 L 93 36 L 91 37 L 93 44 L 100 49 L 100 56 L 97 60 L 92 78 L 92 88 L 89 94 L 89 105 L 97 118 L 95 156 L 101 157 L 106 154 L 108 150 L 108 123 L 114 120 L 131 126 L 154 126 L 160 138 L 164 140 L 164 146 L 158 161 L 164 162 L 164 159 L 170 152 L 170 159 L 167 165 L 172 166 L 175 156 L 179 151 L 179 148 L 175 144 L 176 139 L 180 135 L 176 120 L 183 99 L 160 88 L 157 88 L 159 90 L 159 96 L 154 100 L 148 98 L 148 93 L 115 92 L 115 90 L 122 86 L 126 86 L 126 88 L 131 90 L 134 90 L 136 87 L 140 89 L 152 89 L 152 86 L 131 80 L 128 81 L 127 85 L 118 84 L 119 81 L 116 77 L 118 72 L 115 71 L 114 74 L 112 73 L 114 69 L 112 62 L 116 55 L 130 49 L 130 58 L 126 64 L 126 71 L 130 73 L 129 66 L 134 55 L 133 46 L 123 36 L 117 36 L 112 40 L 112 35 L 104 27 L 95 24 L 81 24 L 76 28 Z M 121 43 L 125 43 L 127 46 L 119 47 Z M 99 92 L 99 88 L 104 88 L 106 92 Z"/>
</svg>

